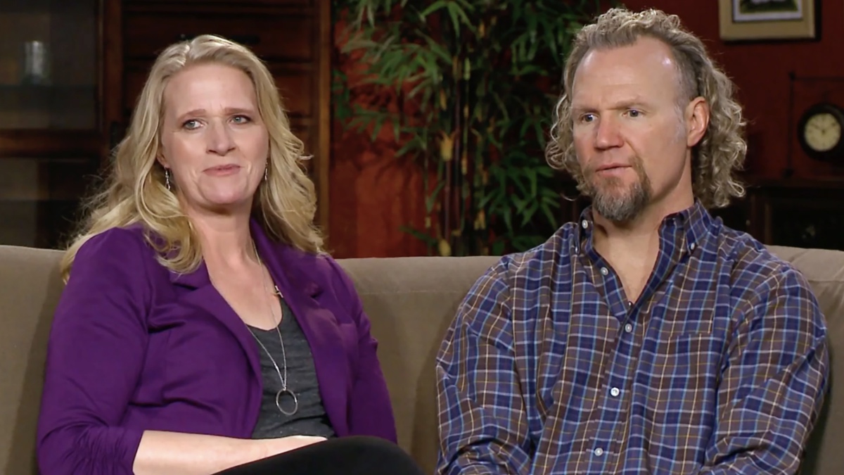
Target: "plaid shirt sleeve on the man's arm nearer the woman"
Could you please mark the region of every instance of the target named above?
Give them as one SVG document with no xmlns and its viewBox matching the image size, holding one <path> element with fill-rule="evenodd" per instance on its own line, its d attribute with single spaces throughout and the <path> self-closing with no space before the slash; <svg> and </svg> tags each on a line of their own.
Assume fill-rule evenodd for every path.
<svg viewBox="0 0 844 475">
<path fill-rule="evenodd" d="M 502 265 L 475 282 L 436 358 L 438 475 L 527 474 L 527 412 Z"/>
</svg>

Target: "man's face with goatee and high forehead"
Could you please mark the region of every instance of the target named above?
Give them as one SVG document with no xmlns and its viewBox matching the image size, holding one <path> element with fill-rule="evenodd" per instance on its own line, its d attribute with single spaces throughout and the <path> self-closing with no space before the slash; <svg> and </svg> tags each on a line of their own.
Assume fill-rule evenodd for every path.
<svg viewBox="0 0 844 475">
<path fill-rule="evenodd" d="M 690 191 L 680 90 L 674 57 L 662 41 L 643 37 L 583 57 L 571 116 L 582 184 L 598 215 L 629 222 L 653 202 Z"/>
</svg>

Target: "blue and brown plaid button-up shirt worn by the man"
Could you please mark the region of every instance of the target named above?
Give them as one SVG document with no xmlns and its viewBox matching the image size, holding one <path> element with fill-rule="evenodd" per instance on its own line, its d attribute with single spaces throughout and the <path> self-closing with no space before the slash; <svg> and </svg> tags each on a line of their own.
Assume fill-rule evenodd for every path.
<svg viewBox="0 0 844 475">
<path fill-rule="evenodd" d="M 793 473 L 829 375 L 807 281 L 699 203 L 641 297 L 591 211 L 475 283 L 436 359 L 437 473 Z"/>
</svg>

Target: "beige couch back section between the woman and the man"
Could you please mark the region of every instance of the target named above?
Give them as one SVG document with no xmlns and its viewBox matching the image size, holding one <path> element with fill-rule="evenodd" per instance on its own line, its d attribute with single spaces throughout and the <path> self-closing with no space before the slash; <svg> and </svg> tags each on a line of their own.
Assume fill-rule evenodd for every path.
<svg viewBox="0 0 844 475">
<path fill-rule="evenodd" d="M 378 340 L 396 416 L 398 442 L 422 465 L 436 466 L 434 358 L 457 305 L 497 258 L 344 259 Z"/>
</svg>

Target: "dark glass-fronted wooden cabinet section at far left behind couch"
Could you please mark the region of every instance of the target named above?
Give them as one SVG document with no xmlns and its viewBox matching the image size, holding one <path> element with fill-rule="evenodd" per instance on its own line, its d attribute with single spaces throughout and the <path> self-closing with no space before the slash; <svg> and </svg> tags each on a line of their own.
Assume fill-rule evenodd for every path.
<svg viewBox="0 0 844 475">
<path fill-rule="evenodd" d="M 0 243 L 55 247 L 106 151 L 98 0 L 0 2 Z"/>
</svg>

